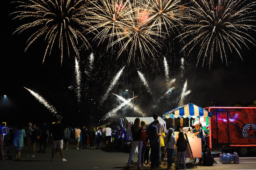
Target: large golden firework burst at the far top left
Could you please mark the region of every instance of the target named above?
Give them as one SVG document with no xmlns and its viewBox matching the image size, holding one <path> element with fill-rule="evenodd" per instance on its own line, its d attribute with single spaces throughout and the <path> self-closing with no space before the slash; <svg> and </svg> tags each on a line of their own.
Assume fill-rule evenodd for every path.
<svg viewBox="0 0 256 170">
<path fill-rule="evenodd" d="M 15 32 L 19 34 L 27 29 L 36 30 L 29 37 L 25 51 L 38 37 L 45 36 L 47 47 L 43 63 L 46 54 L 51 54 L 53 44 L 56 41 L 58 41 L 61 51 L 61 64 L 64 49 L 67 49 L 69 56 L 70 50 L 73 48 L 75 55 L 79 58 L 79 40 L 82 40 L 82 45 L 85 45 L 86 48 L 89 47 L 84 36 L 86 0 L 21 0 L 14 3 L 19 4 L 16 7 L 18 10 L 12 13 L 17 15 L 14 19 L 27 19 L 27 23 L 18 27 Z"/>
</svg>

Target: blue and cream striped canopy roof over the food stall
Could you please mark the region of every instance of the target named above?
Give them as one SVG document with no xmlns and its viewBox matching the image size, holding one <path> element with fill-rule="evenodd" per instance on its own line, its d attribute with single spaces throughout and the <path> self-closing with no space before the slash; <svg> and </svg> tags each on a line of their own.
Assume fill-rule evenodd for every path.
<svg viewBox="0 0 256 170">
<path fill-rule="evenodd" d="M 166 112 L 165 114 L 163 114 L 163 119 L 165 118 L 177 118 L 177 117 L 212 117 L 212 113 L 199 107 L 194 105 L 193 103 L 189 103 L 183 106 L 179 106 L 171 111 Z"/>
</svg>

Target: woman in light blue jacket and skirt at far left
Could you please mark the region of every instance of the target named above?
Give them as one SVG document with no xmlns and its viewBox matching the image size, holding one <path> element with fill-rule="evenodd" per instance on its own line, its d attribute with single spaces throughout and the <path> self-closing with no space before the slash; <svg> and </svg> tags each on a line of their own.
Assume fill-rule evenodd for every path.
<svg viewBox="0 0 256 170">
<path fill-rule="evenodd" d="M 15 150 L 15 160 L 21 160 L 21 149 L 24 144 L 23 138 L 26 137 L 25 130 L 23 130 L 22 125 L 19 125 L 18 128 L 15 130 L 15 136 L 13 138 L 13 148 Z"/>
</svg>

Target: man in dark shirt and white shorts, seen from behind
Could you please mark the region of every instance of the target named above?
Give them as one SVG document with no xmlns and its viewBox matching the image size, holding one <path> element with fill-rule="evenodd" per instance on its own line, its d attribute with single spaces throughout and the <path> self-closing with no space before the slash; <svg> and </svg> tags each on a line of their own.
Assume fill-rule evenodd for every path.
<svg viewBox="0 0 256 170">
<path fill-rule="evenodd" d="M 63 125 L 60 124 L 61 119 L 58 118 L 57 122 L 52 125 L 51 127 L 51 133 L 53 137 L 53 148 L 51 150 L 51 161 L 54 161 L 54 153 L 55 149 L 57 148 L 57 145 L 59 145 L 60 148 L 60 156 L 61 156 L 61 161 L 67 161 L 63 157 L 63 135 L 66 133 L 66 130 Z"/>
</svg>

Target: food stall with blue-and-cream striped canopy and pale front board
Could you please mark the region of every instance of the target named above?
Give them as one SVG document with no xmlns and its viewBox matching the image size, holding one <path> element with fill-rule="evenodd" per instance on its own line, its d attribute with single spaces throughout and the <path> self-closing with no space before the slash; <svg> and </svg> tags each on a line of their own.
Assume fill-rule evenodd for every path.
<svg viewBox="0 0 256 170">
<path fill-rule="evenodd" d="M 179 106 L 171 111 L 168 111 L 163 114 L 163 119 L 169 119 L 169 118 L 186 118 L 190 120 L 192 118 L 200 118 L 200 117 L 212 117 L 212 113 L 194 105 L 193 103 L 189 103 L 183 106 Z M 173 121 L 174 125 L 174 121 Z M 200 125 L 200 119 L 199 119 L 199 125 Z M 190 122 L 189 122 L 190 127 Z M 178 138 L 179 132 L 174 132 L 174 136 L 176 137 L 176 140 Z M 200 133 L 199 138 L 195 136 L 191 131 L 185 131 L 185 136 L 188 140 L 188 147 L 185 152 L 185 158 L 202 158 L 202 144 L 200 139 Z M 177 153 L 177 152 L 176 152 Z"/>
</svg>

